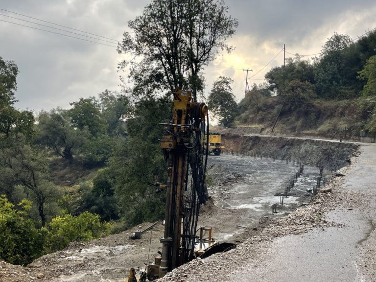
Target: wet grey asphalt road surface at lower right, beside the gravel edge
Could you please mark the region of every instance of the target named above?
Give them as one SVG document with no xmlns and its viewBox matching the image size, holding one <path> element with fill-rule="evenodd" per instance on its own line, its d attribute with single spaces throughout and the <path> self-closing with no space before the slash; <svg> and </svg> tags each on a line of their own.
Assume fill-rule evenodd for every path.
<svg viewBox="0 0 376 282">
<path fill-rule="evenodd" d="M 372 194 L 371 205 L 365 203 L 365 208 L 360 210 L 331 211 L 329 218 L 345 224 L 343 228 L 330 227 L 274 240 L 267 250 L 267 259 L 256 271 L 250 273 L 249 265 L 248 270 L 245 267 L 233 272 L 236 281 L 374 281 L 365 278 L 359 270 L 362 258 L 357 244 L 367 239 L 371 222 L 376 222 L 376 145 L 362 144 L 361 152 L 342 187 Z"/>
</svg>

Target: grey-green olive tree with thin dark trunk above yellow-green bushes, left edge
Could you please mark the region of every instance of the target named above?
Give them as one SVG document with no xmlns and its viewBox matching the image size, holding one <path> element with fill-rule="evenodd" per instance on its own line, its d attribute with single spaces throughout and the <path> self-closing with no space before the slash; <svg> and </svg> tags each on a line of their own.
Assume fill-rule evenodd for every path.
<svg viewBox="0 0 376 282">
<path fill-rule="evenodd" d="M 0 182 L 6 185 L 1 192 L 12 197 L 15 186 L 22 188 L 24 197 L 33 202 L 34 211 L 44 226 L 58 213 L 56 200 L 62 192 L 48 180 L 46 157 L 31 147 L 23 135 L 12 136 L 7 142 L 13 146 L 4 143 L 0 146 Z"/>
</svg>

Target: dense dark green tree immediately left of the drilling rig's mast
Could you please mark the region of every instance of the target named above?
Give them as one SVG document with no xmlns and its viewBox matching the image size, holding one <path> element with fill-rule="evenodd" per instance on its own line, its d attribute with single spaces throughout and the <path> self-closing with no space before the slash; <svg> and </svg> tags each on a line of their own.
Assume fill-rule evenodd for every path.
<svg viewBox="0 0 376 282">
<path fill-rule="evenodd" d="M 166 183 L 159 144 L 164 128 L 157 124 L 168 120 L 170 101 L 153 97 L 141 100 L 132 113 L 127 119 L 128 137 L 118 143 L 110 159 L 119 211 L 129 226 L 164 216 L 164 193 L 152 184 Z"/>
</svg>

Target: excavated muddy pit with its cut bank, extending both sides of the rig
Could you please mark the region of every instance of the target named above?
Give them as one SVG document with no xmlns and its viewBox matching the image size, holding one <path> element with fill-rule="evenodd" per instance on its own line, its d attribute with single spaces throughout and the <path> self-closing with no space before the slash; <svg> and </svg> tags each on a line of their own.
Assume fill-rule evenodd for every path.
<svg viewBox="0 0 376 282">
<path fill-rule="evenodd" d="M 219 241 L 242 242 L 257 235 L 270 222 L 306 205 L 309 189 L 317 181 L 322 165 L 324 177 L 348 165 L 349 156 L 357 149 L 353 143 L 261 136 L 223 135 L 227 153 L 210 156 L 208 189 L 210 202 L 202 206 L 198 225 L 211 226 Z M 303 174 L 284 198 L 283 207 L 272 213 L 271 205 L 279 203 L 286 184 L 305 164 Z M 124 281 L 129 268 L 143 270 L 161 250 L 159 238 L 164 227 L 158 224 L 139 240 L 129 235 L 148 223 L 88 243 L 72 243 L 66 250 L 48 254 L 29 267 L 1 263 L 0 281 Z"/>
</svg>

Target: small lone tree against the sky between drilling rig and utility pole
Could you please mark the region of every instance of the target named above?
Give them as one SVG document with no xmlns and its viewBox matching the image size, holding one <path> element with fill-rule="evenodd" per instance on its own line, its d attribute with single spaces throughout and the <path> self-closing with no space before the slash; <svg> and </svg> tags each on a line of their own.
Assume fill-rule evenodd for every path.
<svg viewBox="0 0 376 282">
<path fill-rule="evenodd" d="M 236 101 L 235 95 L 231 88 L 234 82 L 229 77 L 219 76 L 214 81 L 213 87 L 209 94 L 208 107 L 215 118 L 218 118 L 219 123 L 228 125 L 236 116 Z"/>
</svg>

